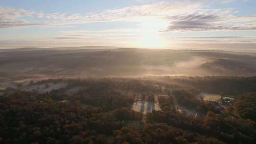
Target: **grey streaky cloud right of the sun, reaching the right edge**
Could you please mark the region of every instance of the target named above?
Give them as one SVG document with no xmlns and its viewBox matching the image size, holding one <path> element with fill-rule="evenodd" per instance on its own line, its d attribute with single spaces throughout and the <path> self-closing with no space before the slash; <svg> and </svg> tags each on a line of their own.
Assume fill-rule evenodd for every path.
<svg viewBox="0 0 256 144">
<path fill-rule="evenodd" d="M 256 15 L 235 16 L 232 9 L 199 10 L 192 14 L 167 16 L 163 31 L 255 30 Z"/>
</svg>

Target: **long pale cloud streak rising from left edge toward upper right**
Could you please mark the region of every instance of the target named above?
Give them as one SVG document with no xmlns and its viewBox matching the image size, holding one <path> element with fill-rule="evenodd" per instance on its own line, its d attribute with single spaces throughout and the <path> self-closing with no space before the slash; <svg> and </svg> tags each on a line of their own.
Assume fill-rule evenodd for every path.
<svg viewBox="0 0 256 144">
<path fill-rule="evenodd" d="M 21 27 L 21 26 L 38 26 L 38 25 L 68 25 L 82 24 L 91 22 L 110 22 L 120 20 L 135 20 L 142 17 L 164 16 L 167 13 L 173 13 L 178 9 L 193 9 L 198 8 L 199 3 L 186 4 L 184 2 L 166 3 L 158 2 L 149 5 L 132 6 L 120 9 L 108 9 L 100 13 L 92 13 L 88 15 L 81 14 L 65 14 L 65 13 L 50 13 L 27 11 L 24 9 L 13 9 L 9 7 L 0 7 L 0 28 Z M 26 17 L 46 18 L 45 22 L 23 22 Z M 30 18 L 30 19 L 31 19 Z M 49 22 L 50 21 L 50 22 Z M 20 23 L 20 24 L 19 24 Z M 19 24 L 19 25 L 18 25 Z"/>
</svg>

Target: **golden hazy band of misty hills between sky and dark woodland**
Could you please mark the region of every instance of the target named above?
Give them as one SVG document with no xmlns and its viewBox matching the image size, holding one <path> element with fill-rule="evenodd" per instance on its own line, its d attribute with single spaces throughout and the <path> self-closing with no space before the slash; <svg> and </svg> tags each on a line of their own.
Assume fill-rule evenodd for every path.
<svg viewBox="0 0 256 144">
<path fill-rule="evenodd" d="M 0 51 L 2 81 L 55 77 L 256 75 L 254 53 L 111 47 Z"/>
</svg>

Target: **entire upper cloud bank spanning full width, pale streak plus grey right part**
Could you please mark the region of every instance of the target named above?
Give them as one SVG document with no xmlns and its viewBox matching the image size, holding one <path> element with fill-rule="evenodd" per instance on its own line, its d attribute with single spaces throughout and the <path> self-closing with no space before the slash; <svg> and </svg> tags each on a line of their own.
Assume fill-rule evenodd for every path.
<svg viewBox="0 0 256 144">
<path fill-rule="evenodd" d="M 228 3 L 234 0 L 211 0 Z M 256 30 L 256 15 L 237 16 L 235 9 L 206 9 L 209 0 L 187 0 L 179 2 L 156 2 L 147 5 L 107 9 L 87 15 L 27 11 L 0 7 L 0 28 L 22 26 L 60 26 L 70 24 L 127 21 L 142 25 L 150 22 L 145 18 L 162 19 L 166 26 L 159 27 L 161 32 L 170 31 L 223 31 Z M 25 17 L 46 18 L 43 22 L 31 22 Z M 35 20 L 36 21 L 36 20 Z"/>
</svg>

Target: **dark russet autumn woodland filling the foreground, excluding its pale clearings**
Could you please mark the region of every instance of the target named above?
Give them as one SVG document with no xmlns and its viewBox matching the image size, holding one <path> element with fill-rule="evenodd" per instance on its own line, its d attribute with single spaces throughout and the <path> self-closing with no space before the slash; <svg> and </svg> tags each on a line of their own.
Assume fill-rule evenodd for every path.
<svg viewBox="0 0 256 144">
<path fill-rule="evenodd" d="M 58 83 L 67 86 L 44 93 L 23 88 L 42 85 L 48 90 Z M 0 91 L 0 143 L 255 144 L 255 83 L 255 77 L 31 81 L 19 89 Z M 231 87 L 236 91 L 229 92 Z M 76 91 L 67 93 L 70 90 Z M 196 97 L 202 91 L 234 101 L 219 109 L 219 103 Z M 154 107 L 159 104 L 161 109 L 137 111 L 138 100 L 155 103 Z M 179 107 L 194 109 L 198 115 Z"/>
</svg>

